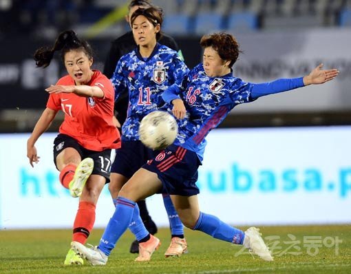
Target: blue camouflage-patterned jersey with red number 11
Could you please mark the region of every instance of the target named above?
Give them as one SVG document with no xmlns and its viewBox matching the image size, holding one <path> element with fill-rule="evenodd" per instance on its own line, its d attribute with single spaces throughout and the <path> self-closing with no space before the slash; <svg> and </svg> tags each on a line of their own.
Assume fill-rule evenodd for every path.
<svg viewBox="0 0 351 274">
<path fill-rule="evenodd" d="M 111 78 L 115 101 L 129 92 L 127 120 L 122 127 L 122 140 L 139 140 L 138 129 L 144 116 L 157 109 L 167 109 L 161 94 L 189 72 L 175 50 L 156 43 L 149 58 L 138 48 L 121 57 Z"/>
</svg>

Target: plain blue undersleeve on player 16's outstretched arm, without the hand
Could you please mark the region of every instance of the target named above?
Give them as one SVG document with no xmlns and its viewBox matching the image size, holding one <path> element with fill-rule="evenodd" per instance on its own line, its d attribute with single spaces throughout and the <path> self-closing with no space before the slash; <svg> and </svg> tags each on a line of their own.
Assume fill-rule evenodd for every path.
<svg viewBox="0 0 351 274">
<path fill-rule="evenodd" d="M 290 89 L 304 87 L 304 77 L 299 78 L 281 78 L 269 83 L 252 84 L 251 98 L 256 99 L 268 94 L 286 92 Z"/>
</svg>

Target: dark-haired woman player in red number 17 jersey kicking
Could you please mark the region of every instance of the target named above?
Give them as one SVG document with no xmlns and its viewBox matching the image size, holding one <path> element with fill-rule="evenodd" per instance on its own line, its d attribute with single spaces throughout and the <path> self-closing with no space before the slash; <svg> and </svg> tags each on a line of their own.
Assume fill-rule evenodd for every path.
<svg viewBox="0 0 351 274">
<path fill-rule="evenodd" d="M 47 67 L 60 50 L 68 75 L 45 89 L 50 96 L 28 139 L 27 157 L 32 167 L 39 162 L 36 140 L 62 110 L 65 119 L 54 140 L 54 163 L 63 187 L 79 197 L 73 241 L 84 244 L 94 226 L 98 196 L 109 182 L 111 149 L 120 147 L 120 134 L 112 122 L 114 87 L 105 75 L 91 69 L 92 48 L 86 41 L 72 30 L 62 32 L 51 49 L 36 50 L 36 65 Z M 83 259 L 70 249 L 64 264 L 83 264 Z"/>
</svg>

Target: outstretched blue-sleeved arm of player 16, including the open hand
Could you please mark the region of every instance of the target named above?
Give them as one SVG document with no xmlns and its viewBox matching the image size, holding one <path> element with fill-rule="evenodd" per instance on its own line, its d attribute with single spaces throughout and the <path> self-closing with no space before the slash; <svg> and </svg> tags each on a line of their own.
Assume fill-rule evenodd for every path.
<svg viewBox="0 0 351 274">
<path fill-rule="evenodd" d="M 306 85 L 323 84 L 331 81 L 339 74 L 339 70 L 321 70 L 321 67 L 323 67 L 323 64 L 315 67 L 310 74 L 304 77 L 288 79 L 282 78 L 270 83 L 253 84 L 251 98 L 255 99 L 268 94 L 286 92 L 290 89 L 296 89 Z"/>
</svg>

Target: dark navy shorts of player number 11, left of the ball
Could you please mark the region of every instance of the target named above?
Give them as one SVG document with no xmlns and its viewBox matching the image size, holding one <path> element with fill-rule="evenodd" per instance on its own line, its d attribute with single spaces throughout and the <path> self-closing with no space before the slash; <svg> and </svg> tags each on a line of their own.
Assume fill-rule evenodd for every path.
<svg viewBox="0 0 351 274">
<path fill-rule="evenodd" d="M 147 160 L 152 159 L 160 151 L 153 151 L 145 147 L 139 140 L 122 141 L 122 146 L 116 149 L 116 158 L 111 167 L 111 172 L 131 178 Z"/>
</svg>

